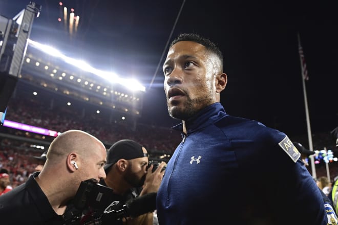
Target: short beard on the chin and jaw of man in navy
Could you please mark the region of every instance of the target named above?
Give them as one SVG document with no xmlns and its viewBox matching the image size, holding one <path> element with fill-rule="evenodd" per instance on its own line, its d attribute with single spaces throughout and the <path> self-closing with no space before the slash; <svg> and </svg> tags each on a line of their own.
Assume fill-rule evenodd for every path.
<svg viewBox="0 0 338 225">
<path fill-rule="evenodd" d="M 183 106 L 175 106 L 175 101 L 170 106 L 167 99 L 168 113 L 172 118 L 186 121 L 213 102 L 211 95 L 204 95 L 204 97 L 196 99 L 192 99 L 188 95 L 185 97 L 186 101 L 183 103 Z"/>
</svg>

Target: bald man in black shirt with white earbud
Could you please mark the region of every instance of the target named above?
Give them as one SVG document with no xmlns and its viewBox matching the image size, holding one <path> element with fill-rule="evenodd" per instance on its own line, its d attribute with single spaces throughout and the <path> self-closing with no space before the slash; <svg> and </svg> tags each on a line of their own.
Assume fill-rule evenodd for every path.
<svg viewBox="0 0 338 225">
<path fill-rule="evenodd" d="M 4 224 L 64 224 L 62 215 L 80 183 L 105 178 L 107 150 L 81 130 L 61 133 L 51 143 L 41 172 L 0 196 Z"/>
</svg>

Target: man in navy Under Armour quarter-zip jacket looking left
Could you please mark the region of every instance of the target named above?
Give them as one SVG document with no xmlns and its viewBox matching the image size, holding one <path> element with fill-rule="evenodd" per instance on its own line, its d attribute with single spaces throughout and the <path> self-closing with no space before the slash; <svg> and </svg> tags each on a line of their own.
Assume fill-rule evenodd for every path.
<svg viewBox="0 0 338 225">
<path fill-rule="evenodd" d="M 163 65 L 168 112 L 182 133 L 159 188 L 159 223 L 330 224 L 322 195 L 283 132 L 228 115 L 218 47 L 181 34 Z"/>
</svg>

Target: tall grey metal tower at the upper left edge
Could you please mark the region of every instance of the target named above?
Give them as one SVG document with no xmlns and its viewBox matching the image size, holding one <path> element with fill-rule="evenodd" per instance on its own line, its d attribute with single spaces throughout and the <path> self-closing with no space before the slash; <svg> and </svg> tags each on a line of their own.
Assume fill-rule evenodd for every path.
<svg viewBox="0 0 338 225">
<path fill-rule="evenodd" d="M 40 5 L 30 2 L 13 19 L 0 15 L 0 125 L 21 73 L 33 20 L 40 11 Z"/>
</svg>

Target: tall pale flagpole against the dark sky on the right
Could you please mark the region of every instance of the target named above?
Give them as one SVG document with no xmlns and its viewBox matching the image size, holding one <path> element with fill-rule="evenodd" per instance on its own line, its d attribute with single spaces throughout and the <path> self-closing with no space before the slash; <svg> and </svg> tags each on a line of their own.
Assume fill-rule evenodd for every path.
<svg viewBox="0 0 338 225">
<path fill-rule="evenodd" d="M 300 48 L 300 50 L 302 50 L 302 46 L 301 46 L 301 38 L 300 35 L 298 33 L 298 46 Z M 303 51 L 303 50 L 302 50 Z M 306 70 L 306 68 L 304 68 L 304 61 L 302 60 L 302 57 L 300 55 L 300 60 L 301 60 L 301 69 L 302 69 L 302 82 L 303 82 L 303 94 L 304 94 L 304 104 L 305 104 L 305 114 L 306 114 L 306 125 L 307 125 L 307 136 L 308 136 L 308 140 L 309 140 L 309 150 L 313 151 L 313 145 L 312 145 L 312 134 L 311 134 L 311 126 L 310 126 L 310 117 L 309 117 L 309 109 L 308 109 L 308 105 L 307 105 L 307 97 L 306 97 L 306 86 L 305 86 L 305 77 L 304 77 L 304 72 Z M 314 179 L 317 178 L 317 174 L 315 171 L 315 165 L 314 165 L 314 159 L 313 159 L 313 154 L 310 155 L 310 161 L 311 161 L 311 169 L 312 169 L 312 177 Z"/>
</svg>

